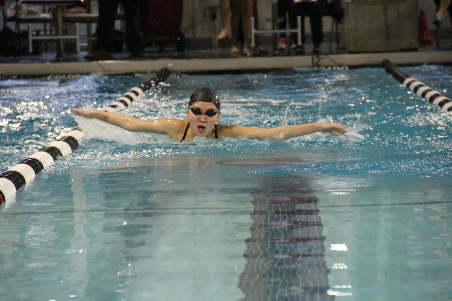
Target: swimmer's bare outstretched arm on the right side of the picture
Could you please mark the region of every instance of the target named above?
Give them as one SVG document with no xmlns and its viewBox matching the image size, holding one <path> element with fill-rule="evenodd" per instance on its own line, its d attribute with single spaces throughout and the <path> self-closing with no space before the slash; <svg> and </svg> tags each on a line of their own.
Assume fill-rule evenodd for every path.
<svg viewBox="0 0 452 301">
<path fill-rule="evenodd" d="M 225 126 L 221 135 L 228 138 L 273 139 L 284 141 L 290 138 L 309 135 L 317 132 L 330 133 L 334 136 L 347 132 L 347 126 L 339 123 L 307 123 L 285 125 L 274 128 L 246 127 L 238 124 Z"/>
</svg>

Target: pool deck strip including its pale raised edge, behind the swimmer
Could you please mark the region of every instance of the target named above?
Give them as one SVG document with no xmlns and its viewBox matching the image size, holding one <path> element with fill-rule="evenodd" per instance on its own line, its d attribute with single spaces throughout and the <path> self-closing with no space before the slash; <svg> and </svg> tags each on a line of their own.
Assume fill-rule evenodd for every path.
<svg viewBox="0 0 452 301">
<path fill-rule="evenodd" d="M 325 45 L 326 46 L 326 45 Z M 34 56 L 0 58 L 0 76 L 34 77 L 67 74 L 142 74 L 169 68 L 173 72 L 249 72 L 294 67 L 344 67 L 379 66 L 384 59 L 395 65 L 452 64 L 452 50 L 436 50 L 432 45 L 418 51 L 380 53 L 335 53 L 328 50 L 321 55 L 264 54 L 258 57 L 230 58 L 228 49 L 189 50 L 184 53 L 147 52 L 138 59 L 126 53 L 115 54 L 115 60 L 90 62 L 86 52 L 71 54 L 57 62 L 54 53 Z"/>
</svg>

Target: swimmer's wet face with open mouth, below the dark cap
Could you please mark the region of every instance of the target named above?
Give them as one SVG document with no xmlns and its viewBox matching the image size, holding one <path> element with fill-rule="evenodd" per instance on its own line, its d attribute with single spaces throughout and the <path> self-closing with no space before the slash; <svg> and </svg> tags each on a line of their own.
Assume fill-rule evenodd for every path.
<svg viewBox="0 0 452 301">
<path fill-rule="evenodd" d="M 201 114 L 195 115 L 191 110 L 192 108 L 201 110 Z M 199 112 L 199 110 L 195 109 L 195 113 Z M 217 113 L 211 117 L 207 116 L 206 113 L 213 113 L 212 111 L 208 112 L 209 110 L 214 110 Z M 188 109 L 187 119 L 190 122 L 190 128 L 192 128 L 196 136 L 208 137 L 213 133 L 213 130 L 215 129 L 215 123 L 218 123 L 220 119 L 220 113 L 216 105 L 214 105 L 213 103 L 197 101 L 193 103 Z"/>
</svg>

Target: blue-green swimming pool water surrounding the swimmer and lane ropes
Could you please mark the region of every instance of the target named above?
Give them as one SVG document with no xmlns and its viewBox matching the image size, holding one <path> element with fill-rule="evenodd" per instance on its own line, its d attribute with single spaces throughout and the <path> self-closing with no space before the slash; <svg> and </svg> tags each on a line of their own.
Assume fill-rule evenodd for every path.
<svg viewBox="0 0 452 301">
<path fill-rule="evenodd" d="M 452 67 L 403 70 L 450 95 Z M 0 81 L 0 169 L 145 78 Z M 450 113 L 382 68 L 173 74 L 125 112 L 184 118 L 200 86 L 224 124 L 350 133 L 178 144 L 79 120 L 83 144 L 3 205 L 0 299 L 452 297 Z"/>
</svg>

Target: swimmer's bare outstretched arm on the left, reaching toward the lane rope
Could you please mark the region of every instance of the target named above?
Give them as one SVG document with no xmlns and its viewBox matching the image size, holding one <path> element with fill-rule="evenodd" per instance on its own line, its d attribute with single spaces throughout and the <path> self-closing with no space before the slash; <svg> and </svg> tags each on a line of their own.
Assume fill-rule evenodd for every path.
<svg viewBox="0 0 452 301">
<path fill-rule="evenodd" d="M 124 114 L 116 114 L 96 110 L 83 110 L 78 108 L 71 108 L 71 112 L 72 114 L 78 116 L 96 118 L 109 124 L 119 126 L 128 131 L 167 134 L 171 138 L 177 135 L 178 131 L 180 131 L 180 123 L 182 123 L 182 126 L 184 123 L 183 120 L 171 118 L 161 120 L 143 120 Z"/>
</svg>

